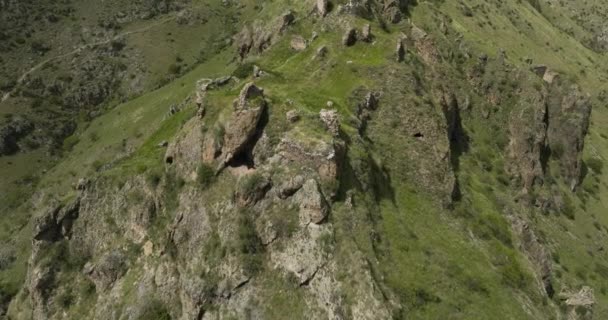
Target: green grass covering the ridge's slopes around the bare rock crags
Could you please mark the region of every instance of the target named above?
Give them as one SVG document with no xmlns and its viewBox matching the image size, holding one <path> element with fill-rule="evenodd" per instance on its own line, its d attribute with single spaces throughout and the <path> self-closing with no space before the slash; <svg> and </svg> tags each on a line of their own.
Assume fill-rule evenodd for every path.
<svg viewBox="0 0 608 320">
<path fill-rule="evenodd" d="M 518 190 L 505 183 L 503 153 L 504 141 L 508 139 L 505 123 L 509 109 L 499 110 L 489 119 L 476 113 L 479 111 L 476 108 L 463 114 L 470 146 L 459 158 L 456 176 L 461 198 L 453 208 L 446 209 L 433 194 L 419 188 L 412 166 L 407 163 L 413 149 L 408 143 L 414 142 L 396 142 L 400 137 L 398 116 L 382 114 L 384 118 L 373 120 L 370 129 L 373 143 L 355 138 L 357 130 L 348 120 L 356 113 L 351 101 L 353 92 L 362 86 L 381 90 L 385 86 L 385 75 L 391 70 L 403 74 L 422 70 L 423 79 L 425 72 L 436 72 L 421 67 L 418 57 L 401 64 L 394 61 L 395 40 L 402 32 L 407 33 L 410 25 L 404 22 L 382 30 L 374 21 L 371 22 L 373 44 L 344 47 L 340 44 L 341 32 L 320 31 L 323 21 L 305 18 L 310 6 L 286 3 L 301 19 L 268 51 L 245 61 L 268 73 L 256 83 L 271 99 L 269 118 L 274 127 L 268 129 L 269 134 L 271 138 L 279 136 L 288 110 L 297 108 L 314 117 L 326 108 L 327 101 L 332 101 L 343 119 L 344 132 L 354 141 L 349 146 L 349 163 L 354 167 L 368 161 L 371 155 L 378 167 L 389 172 L 390 179 L 382 181 L 383 187 L 375 190 L 374 195 L 357 190 L 354 187 L 358 178 L 356 170 L 345 170 L 341 189 L 357 190 L 354 193 L 357 210 L 346 209 L 344 195 L 340 195 L 330 220 L 336 228 L 336 258 L 348 261 L 352 252 L 360 251 L 367 261 L 376 262 L 370 262 L 370 268 L 387 299 L 394 302 L 395 318 L 565 319 L 563 301 L 557 295 L 553 299 L 546 297 L 536 286 L 533 266 L 511 232 L 509 211 L 520 211 L 530 217 L 533 228 L 551 251 L 556 291 L 591 286 L 596 297 L 594 316 L 597 319 L 608 316 L 608 255 L 604 249 L 608 239 L 608 204 L 605 203 L 608 170 L 603 169 L 608 157 L 608 135 L 603 127 L 608 120 L 608 104 L 601 99 L 606 89 L 608 59 L 605 53 L 593 51 L 579 40 L 578 35 L 590 36 L 588 27 L 570 18 L 560 19 L 568 10 L 578 7 L 549 6 L 549 1 L 541 1 L 542 12 L 539 12 L 528 1 L 418 1 L 410 11 L 411 22 L 438 39 L 437 45 L 442 50 L 453 49 L 456 39 L 462 39 L 461 47 L 470 48 L 471 59 L 477 59 L 481 53 L 495 57 L 499 49 L 504 49 L 509 63 L 528 68 L 525 60 L 531 58 L 535 64 L 545 64 L 575 79 L 592 95 L 594 110 L 585 146 L 585 180 L 576 193 L 570 193 L 559 180 L 554 182 L 572 203 L 573 212 L 545 215 L 536 208 L 515 203 Z M 283 12 L 283 4 L 269 2 L 260 9 L 247 3 L 244 7 L 249 11 L 244 20 L 276 17 Z M 465 7 L 470 10 L 469 14 L 465 14 Z M 362 26 L 369 22 L 356 18 L 351 23 Z M 457 34 L 444 35 L 441 23 L 449 25 Z M 572 34 L 563 31 L 567 29 L 574 31 Z M 294 52 L 290 48 L 292 36 L 308 38 L 313 30 L 319 32 L 319 36 L 307 49 Z M 186 37 L 182 26 L 168 25 L 165 31 Z M 200 50 L 198 45 L 191 45 L 190 38 L 176 40 L 178 44 L 164 51 L 156 50 L 155 37 L 150 34 L 135 37 L 134 43 L 148 48 L 146 61 L 153 61 L 158 70 L 152 72 L 159 74 L 164 65 L 173 63 L 174 55 L 195 59 Z M 320 46 L 328 48 L 328 55 L 322 61 L 313 59 Z M 187 98 L 193 93 L 196 81 L 231 74 L 238 67 L 233 51 L 229 50 L 232 48 L 210 55 L 205 62 L 166 86 L 118 104 L 82 127 L 70 138 L 73 142 L 69 152 L 31 182 L 30 188 L 35 186 L 43 195 L 43 201 L 65 199 L 75 192 L 73 185 L 81 177 L 121 179 L 160 170 L 164 149 L 157 145 L 171 140 L 194 115 L 193 103 Z M 437 68 L 444 72 L 446 81 L 462 82 L 459 87 L 465 91 L 470 89 L 452 62 L 443 61 Z M 250 80 L 249 76 L 243 80 Z M 430 79 L 422 81 L 425 89 L 433 84 Z M 236 89 L 214 92 L 210 96 L 210 117 L 220 119 L 222 108 L 228 106 L 237 93 Z M 408 94 L 411 101 L 424 100 L 414 93 Z M 474 103 L 482 101 L 473 94 L 471 99 Z M 170 116 L 169 107 L 180 104 L 183 110 Z M 302 134 L 319 134 L 317 130 L 305 128 Z M 28 170 L 27 161 L 44 161 L 43 156 L 36 154 L 27 160 L 19 161 L 19 157 L 23 156 L 0 158 L 0 161 L 14 162 L 12 166 L 20 166 L 16 171 Z M 7 162 L 0 163 L 0 170 L 4 170 L 0 171 L 2 176 L 17 175 L 15 170 L 7 169 L 13 168 Z M 229 181 L 220 181 L 216 186 L 227 188 L 227 184 Z M 34 208 L 43 206 L 34 205 L 16 193 L 7 194 L 15 200 L 11 200 L 12 205 L 3 212 L 0 243 L 10 243 L 18 254 L 8 268 L 0 270 L 3 289 L 0 293 L 12 297 L 24 281 L 30 217 L 35 213 Z M 135 279 L 137 271 L 128 276 Z M 264 293 L 268 295 L 268 319 L 284 317 L 284 313 L 277 310 L 286 311 L 293 305 L 301 307 L 294 304 L 301 288 L 286 286 L 272 275 L 262 277 L 270 279 L 268 292 Z M 348 279 L 347 271 L 342 277 Z M 345 300 L 356 300 L 349 286 L 344 288 Z M 279 290 L 289 294 L 277 296 Z M 133 294 L 126 293 L 125 299 Z M 78 306 L 72 307 L 72 311 L 76 308 Z M 81 311 L 70 314 L 79 315 Z M 86 314 L 86 310 L 82 312 Z"/>
</svg>

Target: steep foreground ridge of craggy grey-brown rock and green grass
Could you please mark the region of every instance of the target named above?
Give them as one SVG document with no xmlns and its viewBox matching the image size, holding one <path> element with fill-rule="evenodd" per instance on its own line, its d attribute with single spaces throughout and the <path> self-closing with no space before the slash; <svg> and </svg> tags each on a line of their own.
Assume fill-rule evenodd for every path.
<svg viewBox="0 0 608 320">
<path fill-rule="evenodd" d="M 35 214 L 22 286 L 0 290 L 9 319 L 607 312 L 603 144 L 590 153 L 588 137 L 602 102 L 586 93 L 600 78 L 537 66 L 476 27 L 491 14 L 525 42 L 536 34 L 518 19 L 555 7 L 224 6 L 250 14 L 229 45 L 93 121 L 82 136 L 99 136 L 20 207 Z"/>
</svg>

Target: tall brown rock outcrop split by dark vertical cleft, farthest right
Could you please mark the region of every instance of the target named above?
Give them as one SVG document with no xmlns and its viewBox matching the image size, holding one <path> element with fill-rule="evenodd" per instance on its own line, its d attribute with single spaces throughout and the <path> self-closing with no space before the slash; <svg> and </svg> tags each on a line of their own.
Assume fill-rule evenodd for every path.
<svg viewBox="0 0 608 320">
<path fill-rule="evenodd" d="M 549 90 L 521 78 L 519 103 L 511 113 L 511 161 L 506 171 L 521 185 L 523 193 L 543 184 L 545 167 L 557 161 L 560 176 L 572 190 L 582 179 L 582 152 L 591 116 L 591 102 L 577 86 L 557 81 Z"/>
</svg>

